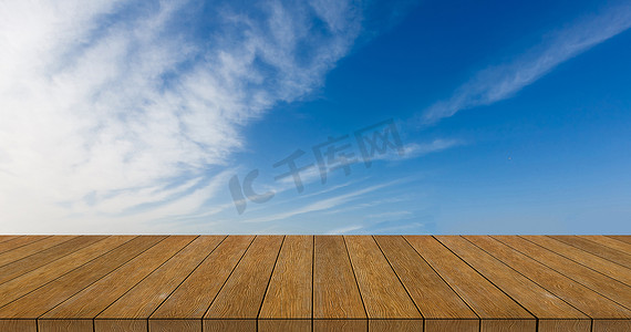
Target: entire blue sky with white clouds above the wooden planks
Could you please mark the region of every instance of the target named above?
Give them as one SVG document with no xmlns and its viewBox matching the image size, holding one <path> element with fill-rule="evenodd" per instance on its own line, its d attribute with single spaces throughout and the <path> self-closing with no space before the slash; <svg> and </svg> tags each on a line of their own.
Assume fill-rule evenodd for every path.
<svg viewBox="0 0 631 332">
<path fill-rule="evenodd" d="M 629 1 L 0 12 L 0 232 L 631 232 Z"/>
</svg>

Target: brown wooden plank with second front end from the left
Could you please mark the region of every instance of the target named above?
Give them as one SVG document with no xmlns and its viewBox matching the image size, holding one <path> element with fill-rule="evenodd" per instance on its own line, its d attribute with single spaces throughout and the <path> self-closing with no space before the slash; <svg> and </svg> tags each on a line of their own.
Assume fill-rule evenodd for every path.
<svg viewBox="0 0 631 332">
<path fill-rule="evenodd" d="M 169 258 L 184 249 L 197 236 L 169 236 L 156 243 L 99 281 L 92 283 L 70 299 L 41 315 L 38 320 L 40 331 L 68 331 L 62 328 L 68 324 L 90 321 L 89 330 L 93 331 L 92 320 L 116 301 L 126 291 L 152 273 Z M 83 324 L 82 324 L 83 326 Z"/>
</svg>

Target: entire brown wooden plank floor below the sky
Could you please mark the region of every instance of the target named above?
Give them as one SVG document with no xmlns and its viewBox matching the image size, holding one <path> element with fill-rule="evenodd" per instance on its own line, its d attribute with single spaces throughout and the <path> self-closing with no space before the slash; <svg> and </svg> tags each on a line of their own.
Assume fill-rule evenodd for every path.
<svg viewBox="0 0 631 332">
<path fill-rule="evenodd" d="M 0 236 L 0 331 L 631 331 L 630 236 Z"/>
</svg>

